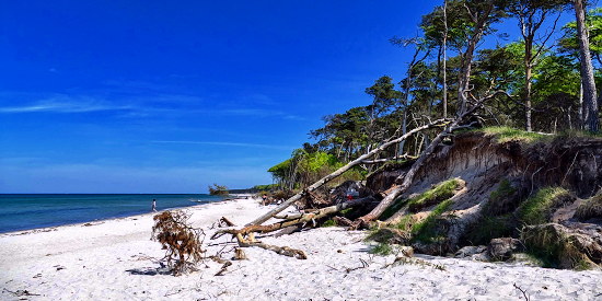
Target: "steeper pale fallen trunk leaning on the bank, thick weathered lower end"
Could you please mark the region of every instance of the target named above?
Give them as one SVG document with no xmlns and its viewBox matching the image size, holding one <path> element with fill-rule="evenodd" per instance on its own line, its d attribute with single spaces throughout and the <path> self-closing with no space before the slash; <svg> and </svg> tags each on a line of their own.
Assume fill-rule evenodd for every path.
<svg viewBox="0 0 602 301">
<path fill-rule="evenodd" d="M 460 124 L 464 119 L 466 119 L 466 117 L 471 116 L 476 109 L 478 109 L 483 105 L 483 103 L 485 101 L 487 101 L 489 99 L 493 99 L 496 94 L 497 93 L 491 94 L 487 97 L 484 97 L 484 99 L 479 100 L 474 106 L 472 106 L 470 109 L 467 109 L 462 115 L 460 115 L 458 118 L 455 118 L 455 120 L 453 120 L 443 131 L 441 131 L 439 135 L 437 135 L 437 137 L 435 137 L 435 139 L 431 141 L 431 143 L 428 146 L 428 148 L 425 150 L 425 152 L 420 155 L 420 158 L 418 158 L 418 160 L 416 160 L 416 162 L 414 162 L 414 164 L 412 165 L 409 171 L 407 171 L 407 173 L 402 175 L 403 176 L 402 184 L 393 185 L 393 187 L 389 188 L 384 193 L 385 196 L 381 200 L 381 202 L 374 209 L 372 209 L 372 211 L 370 211 L 368 215 L 366 215 L 361 218 L 358 218 L 354 222 L 352 228 L 357 229 L 361 225 L 367 227 L 370 221 L 373 221 L 373 220 L 378 219 L 384 212 L 384 210 L 386 210 L 386 208 L 389 208 L 389 206 L 391 206 L 391 204 L 393 204 L 395 201 L 395 199 L 398 196 L 401 196 L 403 193 L 405 193 L 409 188 L 409 186 L 414 182 L 414 177 L 416 176 L 418 171 L 420 171 L 422 165 L 430 158 L 430 155 L 432 154 L 435 149 L 439 146 L 439 143 L 441 143 L 443 138 L 445 136 L 450 135 L 452 131 L 456 130 L 459 127 L 461 127 Z M 402 178 L 397 178 L 395 182 L 401 181 L 401 180 Z"/>
</svg>

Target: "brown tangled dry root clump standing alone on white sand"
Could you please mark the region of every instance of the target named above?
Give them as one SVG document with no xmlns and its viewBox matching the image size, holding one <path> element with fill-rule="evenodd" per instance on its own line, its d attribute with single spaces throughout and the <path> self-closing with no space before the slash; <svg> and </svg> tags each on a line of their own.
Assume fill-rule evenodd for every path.
<svg viewBox="0 0 602 301">
<path fill-rule="evenodd" d="M 202 240 L 205 233 L 193 228 L 190 215 L 183 210 L 163 211 L 153 217 L 151 240 L 161 243 L 165 250 L 163 261 L 174 276 L 196 270 L 196 264 L 204 259 Z"/>
</svg>

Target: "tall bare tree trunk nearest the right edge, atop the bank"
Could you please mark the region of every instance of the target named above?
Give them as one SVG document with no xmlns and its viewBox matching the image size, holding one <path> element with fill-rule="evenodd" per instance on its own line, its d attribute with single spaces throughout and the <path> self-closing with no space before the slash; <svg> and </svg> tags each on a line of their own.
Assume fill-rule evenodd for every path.
<svg viewBox="0 0 602 301">
<path fill-rule="evenodd" d="M 598 132 L 598 97 L 593 79 L 593 66 L 586 27 L 586 8 L 583 0 L 575 0 L 575 15 L 577 19 L 577 36 L 579 38 L 579 56 L 581 58 L 581 83 L 583 85 L 583 120 L 586 130 Z"/>
</svg>

